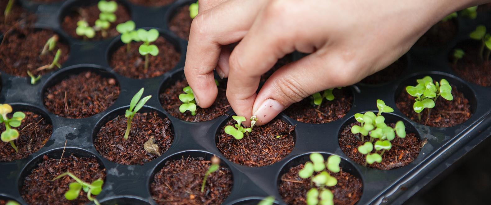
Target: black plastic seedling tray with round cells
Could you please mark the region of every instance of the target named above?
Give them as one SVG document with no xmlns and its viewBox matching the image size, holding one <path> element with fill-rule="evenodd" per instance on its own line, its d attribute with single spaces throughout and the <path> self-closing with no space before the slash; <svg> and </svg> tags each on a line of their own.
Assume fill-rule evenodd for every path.
<svg viewBox="0 0 491 205">
<path fill-rule="evenodd" d="M 158 8 L 137 6 L 127 0 L 120 0 L 130 11 L 132 19 L 139 27 L 155 27 L 161 35 L 171 42 L 181 59 L 172 71 L 163 76 L 149 79 L 131 79 L 112 71 L 109 66 L 109 53 L 122 45 L 119 37 L 104 41 L 82 41 L 70 37 L 61 29 L 60 22 L 67 8 L 72 5 L 95 2 L 95 0 L 67 0 L 54 4 L 36 4 L 20 0 L 29 11 L 36 12 L 36 27 L 52 29 L 70 45 L 69 59 L 62 69 L 41 77 L 36 85 L 31 85 L 27 77 L 15 77 L 1 73 L 0 102 L 13 105 L 14 109 L 32 110 L 44 115 L 53 124 L 53 135 L 39 151 L 25 159 L 12 162 L 0 162 L 0 198 L 13 199 L 26 204 L 20 194 L 24 178 L 48 154 L 60 157 L 65 140 L 67 146 L 64 156 L 75 153 L 79 156 L 94 156 L 106 169 L 107 178 L 103 191 L 97 196 L 103 203 L 122 204 L 155 204 L 150 196 L 150 183 L 153 175 L 163 167 L 169 158 L 182 156 L 203 156 L 210 158 L 213 154 L 222 160 L 222 166 L 230 168 L 233 176 L 232 192 L 223 203 L 257 204 L 260 199 L 274 196 L 278 204 L 281 196 L 278 193 L 280 177 L 292 166 L 306 161 L 308 154 L 321 152 L 341 156 L 344 171 L 350 172 L 363 181 L 363 193 L 358 204 L 401 204 L 421 189 L 425 184 L 443 172 L 448 166 L 461 158 L 470 149 L 491 135 L 491 87 L 481 87 L 456 77 L 448 65 L 448 53 L 458 42 L 465 40 L 467 34 L 480 22 L 489 22 L 489 14 L 480 13 L 476 20 L 458 18 L 459 34 L 450 43 L 439 48 L 414 48 L 406 55 L 408 66 L 400 78 L 382 85 L 355 84 L 351 87 L 354 104 L 343 118 L 331 123 L 311 125 L 297 122 L 285 114 L 279 119 L 295 128 L 295 148 L 283 160 L 264 167 L 246 167 L 235 164 L 217 149 L 216 136 L 218 129 L 229 116 L 191 123 L 170 116 L 159 102 L 160 91 L 170 83 L 184 76 L 183 66 L 186 56 L 187 41 L 179 39 L 168 29 L 167 22 L 177 8 L 194 0 L 177 0 L 175 3 Z M 161 51 L 165 52 L 165 51 Z M 298 56 L 297 56 L 298 57 Z M 107 110 L 83 119 L 67 119 L 50 113 L 43 103 L 44 91 L 49 86 L 69 74 L 85 70 L 96 71 L 105 76 L 114 77 L 121 93 L 118 99 Z M 415 84 L 415 79 L 430 75 L 436 79 L 446 78 L 463 92 L 471 105 L 472 117 L 461 125 L 450 128 L 432 128 L 417 124 L 402 114 L 395 104 L 395 99 L 405 86 Z M 133 95 L 141 88 L 145 95 L 153 97 L 146 104 L 145 111 L 157 111 L 167 116 L 172 122 L 174 140 L 171 147 L 162 156 L 144 165 L 120 165 L 103 158 L 94 148 L 93 137 L 98 129 L 116 115 L 124 113 Z M 376 170 L 353 162 L 340 149 L 338 133 L 353 122 L 355 113 L 376 109 L 376 100 L 382 99 L 394 108 L 386 114 L 387 121 L 403 120 L 409 131 L 416 133 L 428 143 L 421 149 L 419 156 L 409 165 L 393 170 Z M 230 110 L 229 114 L 233 114 Z"/>
</svg>

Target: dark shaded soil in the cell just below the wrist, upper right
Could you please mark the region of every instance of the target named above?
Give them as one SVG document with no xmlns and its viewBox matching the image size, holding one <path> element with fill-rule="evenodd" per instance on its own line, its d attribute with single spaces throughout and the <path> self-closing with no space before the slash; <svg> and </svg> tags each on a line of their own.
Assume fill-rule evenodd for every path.
<svg viewBox="0 0 491 205">
<path fill-rule="evenodd" d="M 416 42 L 417 47 L 441 46 L 450 42 L 457 35 L 457 20 L 439 21 Z"/>
</svg>

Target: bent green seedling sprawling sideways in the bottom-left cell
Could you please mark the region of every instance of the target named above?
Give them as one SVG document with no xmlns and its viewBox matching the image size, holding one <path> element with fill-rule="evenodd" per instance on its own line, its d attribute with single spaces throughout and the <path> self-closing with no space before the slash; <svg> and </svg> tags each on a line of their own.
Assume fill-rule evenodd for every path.
<svg viewBox="0 0 491 205">
<path fill-rule="evenodd" d="M 77 199 L 79 197 L 80 191 L 83 189 L 84 192 L 87 193 L 87 199 L 91 202 L 94 202 L 96 205 L 100 205 L 99 201 L 97 199 L 93 198 L 92 195 L 99 195 L 102 191 L 102 185 L 104 184 L 104 181 L 102 179 L 97 179 L 93 181 L 92 183 L 87 183 L 85 181 L 82 181 L 82 179 L 79 179 L 77 176 L 70 172 L 65 172 L 52 181 L 56 179 L 60 179 L 64 176 L 69 176 L 72 179 L 75 180 L 75 182 L 71 182 L 68 187 L 70 188 L 67 192 L 65 192 L 65 198 L 69 201 L 72 201 L 74 199 Z"/>
</svg>

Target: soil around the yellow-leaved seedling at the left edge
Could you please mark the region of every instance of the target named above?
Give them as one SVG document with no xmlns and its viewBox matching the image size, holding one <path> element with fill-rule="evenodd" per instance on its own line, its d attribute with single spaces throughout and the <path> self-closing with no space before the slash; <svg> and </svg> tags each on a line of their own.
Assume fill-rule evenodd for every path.
<svg viewBox="0 0 491 205">
<path fill-rule="evenodd" d="M 11 118 L 14 112 L 7 116 Z M 53 126 L 43 116 L 28 111 L 22 112 L 26 114 L 26 118 L 22 121 L 21 126 L 15 128 L 19 131 L 19 138 L 14 140 L 19 152 L 15 152 L 10 142 L 0 141 L 0 161 L 26 158 L 29 154 L 41 149 L 53 133 Z M 0 132 L 3 131 L 5 131 L 5 126 L 2 125 Z"/>
</svg>

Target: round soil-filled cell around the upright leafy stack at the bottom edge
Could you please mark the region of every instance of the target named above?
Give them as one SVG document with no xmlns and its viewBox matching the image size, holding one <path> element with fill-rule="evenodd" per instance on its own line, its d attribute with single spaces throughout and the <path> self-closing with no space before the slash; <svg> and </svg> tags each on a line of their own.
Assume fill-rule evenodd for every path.
<svg viewBox="0 0 491 205">
<path fill-rule="evenodd" d="M 311 153 L 302 154 L 288 161 L 278 174 L 276 187 L 286 204 L 305 204 L 307 191 L 311 188 L 309 179 L 298 176 L 305 162 L 310 161 Z M 321 153 L 327 160 L 331 154 Z M 329 173 L 337 179 L 337 185 L 328 187 L 334 194 L 334 204 L 354 205 L 363 194 L 363 179 L 359 170 L 347 160 L 341 158 L 339 173 Z M 315 173 L 314 173 L 315 174 Z"/>
</svg>

